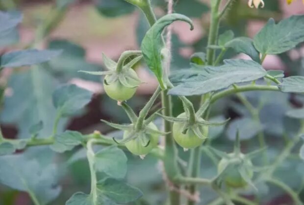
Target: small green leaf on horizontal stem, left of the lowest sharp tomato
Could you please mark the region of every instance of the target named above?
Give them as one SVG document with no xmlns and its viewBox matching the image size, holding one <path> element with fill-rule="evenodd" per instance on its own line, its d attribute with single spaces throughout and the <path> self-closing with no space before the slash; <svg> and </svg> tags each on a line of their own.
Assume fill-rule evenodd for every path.
<svg viewBox="0 0 304 205">
<path fill-rule="evenodd" d="M 84 142 L 84 137 L 76 131 L 65 131 L 55 136 L 55 142 L 51 145 L 51 149 L 55 152 L 63 153 L 72 150 L 75 146 Z"/>
</svg>

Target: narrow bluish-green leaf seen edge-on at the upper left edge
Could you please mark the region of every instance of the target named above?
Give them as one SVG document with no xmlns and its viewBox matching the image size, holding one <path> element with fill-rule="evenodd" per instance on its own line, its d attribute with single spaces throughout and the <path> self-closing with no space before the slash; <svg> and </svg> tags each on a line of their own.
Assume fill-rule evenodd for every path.
<svg viewBox="0 0 304 205">
<path fill-rule="evenodd" d="M 0 67 L 21 67 L 40 64 L 61 54 L 61 50 L 19 50 L 5 53 L 1 56 Z"/>
</svg>

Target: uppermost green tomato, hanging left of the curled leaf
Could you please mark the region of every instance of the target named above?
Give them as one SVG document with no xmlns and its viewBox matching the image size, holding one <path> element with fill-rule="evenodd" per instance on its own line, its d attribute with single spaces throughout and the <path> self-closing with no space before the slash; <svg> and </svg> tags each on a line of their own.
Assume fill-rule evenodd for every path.
<svg viewBox="0 0 304 205">
<path fill-rule="evenodd" d="M 133 69 L 128 70 L 129 74 L 137 78 L 137 74 Z M 103 80 L 103 88 L 105 93 L 112 99 L 117 101 L 125 101 L 130 99 L 136 92 L 137 87 L 135 88 L 128 88 L 124 86 L 119 80 L 116 80 L 110 84 L 105 84 L 104 82 L 107 81 L 109 75 L 105 76 Z"/>
</svg>

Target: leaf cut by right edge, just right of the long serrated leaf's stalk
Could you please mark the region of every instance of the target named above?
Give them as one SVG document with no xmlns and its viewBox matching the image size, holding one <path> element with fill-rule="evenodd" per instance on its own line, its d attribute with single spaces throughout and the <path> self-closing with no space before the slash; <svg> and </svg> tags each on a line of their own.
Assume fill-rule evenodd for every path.
<svg viewBox="0 0 304 205">
<path fill-rule="evenodd" d="M 282 82 L 279 84 L 279 89 L 282 92 L 304 92 L 304 77 L 303 76 L 291 76 L 283 78 Z"/>
</svg>

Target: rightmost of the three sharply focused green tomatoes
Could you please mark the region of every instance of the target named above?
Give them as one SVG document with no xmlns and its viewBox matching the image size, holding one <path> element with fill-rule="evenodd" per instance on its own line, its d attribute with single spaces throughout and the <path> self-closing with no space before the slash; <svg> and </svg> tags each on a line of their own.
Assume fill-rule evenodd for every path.
<svg viewBox="0 0 304 205">
<path fill-rule="evenodd" d="M 177 118 L 185 118 L 186 114 L 182 113 L 177 116 Z M 174 122 L 173 123 L 173 129 L 172 129 L 172 134 L 177 142 L 181 147 L 190 149 L 190 148 L 195 148 L 197 146 L 200 146 L 204 139 L 201 139 L 200 137 L 196 136 L 193 131 L 190 129 L 187 130 L 186 134 L 182 134 L 183 126 L 182 123 L 179 122 Z M 207 126 L 200 126 L 201 132 L 205 137 L 208 136 L 208 127 Z"/>
</svg>

